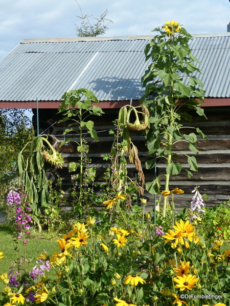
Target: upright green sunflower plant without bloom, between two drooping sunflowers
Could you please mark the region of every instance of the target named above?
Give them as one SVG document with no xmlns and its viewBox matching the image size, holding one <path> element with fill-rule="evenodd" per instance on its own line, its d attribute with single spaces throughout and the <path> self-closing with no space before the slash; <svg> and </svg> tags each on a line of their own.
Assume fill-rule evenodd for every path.
<svg viewBox="0 0 230 306">
<path fill-rule="evenodd" d="M 77 151 L 80 153 L 80 160 L 78 162 L 71 162 L 68 168 L 69 172 L 76 171 L 79 167 L 78 174 L 72 177 L 72 181 L 74 184 L 77 184 L 79 181 L 79 191 L 76 190 L 76 186 L 74 186 L 74 190 L 72 192 L 72 196 L 74 197 L 73 206 L 75 213 L 80 215 L 83 213 L 82 205 L 84 203 L 85 209 L 89 206 L 89 194 L 92 196 L 93 191 L 89 192 L 88 183 L 93 182 L 93 178 L 96 174 L 96 168 L 90 168 L 88 165 L 90 160 L 87 158 L 87 153 L 89 146 L 85 141 L 86 135 L 90 135 L 95 141 L 98 141 L 97 132 L 93 129 L 94 122 L 91 120 L 87 120 L 88 116 L 96 115 L 101 116 L 104 114 L 102 109 L 93 103 L 100 104 L 99 100 L 96 98 L 94 93 L 85 88 L 81 88 L 78 90 L 70 90 L 63 94 L 62 103 L 58 108 L 59 113 L 63 113 L 64 118 L 59 122 L 65 122 L 67 120 L 72 121 L 72 123 L 68 124 L 68 126 L 73 126 L 71 129 L 65 129 L 64 135 L 68 133 L 75 132 L 78 137 L 77 143 Z M 75 119 L 76 118 L 76 119 Z M 86 133 L 83 133 L 83 129 L 86 128 Z M 71 141 L 70 138 L 66 138 L 65 141 L 61 143 L 60 146 Z M 83 168 L 85 170 L 83 171 Z"/>
</svg>

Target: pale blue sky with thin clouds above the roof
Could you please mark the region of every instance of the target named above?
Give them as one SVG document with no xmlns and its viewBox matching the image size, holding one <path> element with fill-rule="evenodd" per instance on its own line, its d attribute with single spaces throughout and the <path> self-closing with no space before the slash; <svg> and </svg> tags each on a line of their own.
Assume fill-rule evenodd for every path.
<svg viewBox="0 0 230 306">
<path fill-rule="evenodd" d="M 228 0 L 78 0 L 84 15 L 96 21 L 107 9 L 113 21 L 104 36 L 153 35 L 176 20 L 191 34 L 224 33 L 230 22 Z M 76 37 L 81 15 L 75 0 L 1 0 L 0 60 L 28 38 Z"/>
</svg>

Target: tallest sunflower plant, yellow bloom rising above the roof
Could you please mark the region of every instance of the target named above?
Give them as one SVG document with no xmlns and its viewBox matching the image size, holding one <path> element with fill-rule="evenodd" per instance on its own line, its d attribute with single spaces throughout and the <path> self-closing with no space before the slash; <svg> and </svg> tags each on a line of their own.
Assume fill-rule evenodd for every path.
<svg viewBox="0 0 230 306">
<path fill-rule="evenodd" d="M 151 59 L 151 63 L 142 77 L 145 94 L 141 99 L 150 113 L 150 129 L 146 139 L 149 155 L 154 157 L 147 162 L 146 167 L 148 169 L 154 167 L 159 157 L 167 159 L 166 173 L 161 174 L 161 176 L 165 175 L 166 179 L 164 190 L 169 190 L 170 175 L 177 175 L 182 170 L 180 163 L 175 164 L 172 161 L 173 145 L 178 141 L 187 142 L 189 149 L 198 154 L 195 147 L 196 134 L 183 133 L 184 127 L 179 123 L 181 118 L 192 120 L 192 115 L 187 113 L 185 108 L 195 110 L 198 115 L 205 117 L 200 108 L 204 96 L 203 85 L 194 75 L 194 72 L 201 73 L 194 64 L 199 61 L 192 55 L 189 48 L 189 40 L 192 39 L 192 36 L 185 29 L 180 28 L 177 22 L 167 29 L 168 26 L 165 25 L 163 28 L 153 30 L 159 34 L 154 36 L 145 48 L 146 60 Z M 187 80 L 189 80 L 189 85 L 186 84 Z M 195 130 L 200 137 L 207 139 L 199 129 Z M 186 156 L 190 170 L 197 171 L 196 158 Z M 191 177 L 192 172 L 185 170 Z M 151 187 L 150 184 L 147 186 L 147 190 L 153 194 L 158 194 L 159 188 L 158 180 L 155 180 Z M 165 212 L 166 198 L 164 216 Z"/>
</svg>

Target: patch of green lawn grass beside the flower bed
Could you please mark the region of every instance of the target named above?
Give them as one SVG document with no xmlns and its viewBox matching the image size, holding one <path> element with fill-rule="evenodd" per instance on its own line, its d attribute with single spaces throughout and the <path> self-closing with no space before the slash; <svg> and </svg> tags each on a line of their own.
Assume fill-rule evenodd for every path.
<svg viewBox="0 0 230 306">
<path fill-rule="evenodd" d="M 41 251 L 45 250 L 49 255 L 52 255 L 56 250 L 58 250 L 58 244 L 55 242 L 57 239 L 59 239 L 59 236 L 55 233 L 36 233 L 31 231 L 31 235 L 26 246 L 26 258 L 30 261 L 28 268 L 29 271 L 36 265 L 36 258 Z M 13 233 L 9 225 L 0 225 L 0 241 L 0 252 L 4 252 L 4 258 L 0 260 L 1 275 L 2 273 L 8 273 L 10 267 L 12 267 L 12 264 L 16 260 Z M 18 240 L 18 242 L 19 256 L 24 256 L 22 239 Z"/>
</svg>

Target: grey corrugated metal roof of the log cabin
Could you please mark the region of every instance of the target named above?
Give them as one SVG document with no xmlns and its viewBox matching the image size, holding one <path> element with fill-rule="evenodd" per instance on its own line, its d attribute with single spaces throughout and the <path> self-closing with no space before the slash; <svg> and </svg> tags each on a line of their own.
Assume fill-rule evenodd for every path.
<svg viewBox="0 0 230 306">
<path fill-rule="evenodd" d="M 229 97 L 230 36 L 194 35 L 206 97 Z M 68 89 L 93 90 L 101 101 L 140 99 L 151 37 L 24 40 L 0 62 L 0 100 L 59 100 Z M 73 41 L 76 40 L 76 41 Z"/>
</svg>

